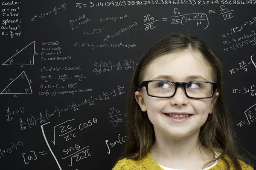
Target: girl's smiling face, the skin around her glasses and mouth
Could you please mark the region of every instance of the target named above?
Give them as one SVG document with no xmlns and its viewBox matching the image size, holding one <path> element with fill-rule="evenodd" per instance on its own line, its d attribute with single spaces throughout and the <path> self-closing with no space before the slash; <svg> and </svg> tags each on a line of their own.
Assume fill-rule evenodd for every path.
<svg viewBox="0 0 256 170">
<path fill-rule="evenodd" d="M 160 80 L 176 82 L 213 82 L 209 66 L 203 62 L 200 55 L 195 53 L 193 55 L 189 52 L 182 52 L 157 58 L 145 70 L 143 81 L 158 77 L 157 79 Z M 163 78 L 159 78 L 160 76 Z M 188 78 L 189 76 L 190 78 Z M 195 78 L 191 78 L 191 76 Z M 218 92 L 215 92 L 215 95 L 218 97 Z M 148 96 L 145 87 L 140 89 L 140 92 L 135 92 L 135 98 L 142 111 L 147 111 L 155 132 L 173 137 L 185 137 L 199 133 L 200 127 L 207 120 L 208 114 L 212 113 L 213 108 L 212 98 L 188 98 L 183 86 L 177 87 L 176 94 L 172 98 Z M 187 112 L 193 115 L 186 121 L 178 122 L 172 121 L 163 114 L 169 112 Z"/>
</svg>

